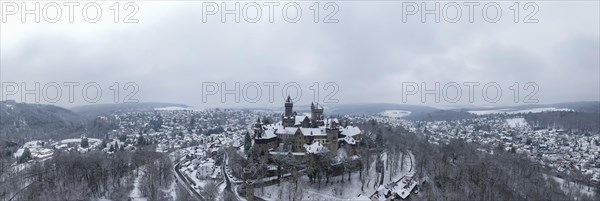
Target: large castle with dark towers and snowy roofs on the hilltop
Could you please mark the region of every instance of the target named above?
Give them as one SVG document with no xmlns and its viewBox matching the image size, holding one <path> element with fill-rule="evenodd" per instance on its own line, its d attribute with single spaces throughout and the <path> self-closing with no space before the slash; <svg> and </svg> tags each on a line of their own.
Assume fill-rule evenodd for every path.
<svg viewBox="0 0 600 201">
<path fill-rule="evenodd" d="M 254 144 L 261 154 L 276 148 L 294 153 L 335 152 L 340 144 L 355 145 L 360 140 L 360 129 L 343 127 L 337 119 L 325 119 L 318 103 L 311 104 L 310 116 L 294 112 L 289 96 L 284 107 L 280 122 L 263 125 L 258 119 L 254 125 Z"/>
</svg>

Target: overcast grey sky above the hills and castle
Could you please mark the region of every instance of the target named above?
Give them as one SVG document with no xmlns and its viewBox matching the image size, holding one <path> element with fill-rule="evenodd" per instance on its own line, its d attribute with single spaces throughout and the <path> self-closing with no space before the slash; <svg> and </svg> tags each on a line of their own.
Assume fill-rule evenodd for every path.
<svg viewBox="0 0 600 201">
<path fill-rule="evenodd" d="M 42 86 L 80 82 L 74 103 L 69 103 L 67 88 L 62 88 L 63 96 L 56 104 L 66 107 L 86 104 L 81 88 L 88 82 L 102 87 L 99 103 L 113 101 L 112 83 L 123 88 L 134 82 L 139 92 L 133 98 L 141 102 L 196 107 L 280 106 L 282 88 L 288 82 L 301 86 L 301 103 L 314 100 L 310 88 L 314 82 L 321 88 L 319 102 L 334 88 L 324 89 L 328 82 L 339 87 L 330 99 L 340 103 L 402 103 L 402 83 L 422 82 L 430 89 L 436 82 L 442 87 L 479 82 L 473 103 L 478 105 L 514 104 L 510 87 L 515 82 L 520 87 L 519 104 L 533 91 L 533 87 L 523 89 L 528 82 L 538 86 L 531 98 L 540 103 L 600 99 L 598 1 L 538 2 L 534 15 L 538 23 L 523 23 L 531 11 L 523 8 L 515 23 L 509 8 L 514 2 L 499 3 L 503 10 L 497 23 L 482 18 L 485 3 L 475 8 L 473 23 L 469 23 L 467 7 L 462 7 L 457 23 L 448 23 L 443 17 L 435 23 L 433 16 L 423 23 L 420 15 L 408 16 L 405 23 L 402 3 L 385 1 L 337 2 L 334 18 L 338 23 L 313 22 L 310 6 L 314 2 L 299 3 L 303 15 L 297 23 L 283 19 L 284 3 L 274 9 L 273 23 L 266 16 L 268 7 L 262 7 L 258 23 L 244 18 L 235 23 L 233 16 L 225 23 L 220 16 L 209 16 L 204 23 L 200 2 L 150 1 L 137 3 L 138 23 L 124 24 L 112 21 L 112 3 L 100 3 L 103 15 L 98 23 L 87 23 L 81 15 L 74 16 L 75 23 L 63 16 L 56 24 L 44 18 L 40 23 L 29 18 L 21 23 L 19 15 L 8 16 L 0 25 L 3 86 L 11 82 L 39 82 Z M 441 6 L 445 4 L 441 2 Z M 66 15 L 66 7 L 62 10 Z M 321 9 L 320 18 L 329 11 Z M 76 7 L 75 13 L 79 12 L 81 7 Z M 120 18 L 127 13 L 121 10 Z M 230 88 L 236 82 L 242 87 L 250 82 L 280 85 L 275 88 L 274 103 L 269 103 L 264 86 L 257 103 L 243 98 L 236 103 L 233 96 L 223 103 L 219 93 L 203 102 L 203 82 L 224 82 Z M 482 97 L 482 86 L 491 82 L 502 89 L 497 103 Z M 422 102 L 420 93 L 408 96 L 407 103 L 470 104 L 468 88 L 462 85 L 461 89 L 457 103 L 443 98 L 436 103 L 433 95 Z M 121 90 L 119 101 L 129 91 Z M 495 95 L 493 89 L 488 93 Z M 4 93 L 2 98 L 19 101 L 19 95 Z M 32 99 L 27 97 L 27 102 Z"/>
</svg>

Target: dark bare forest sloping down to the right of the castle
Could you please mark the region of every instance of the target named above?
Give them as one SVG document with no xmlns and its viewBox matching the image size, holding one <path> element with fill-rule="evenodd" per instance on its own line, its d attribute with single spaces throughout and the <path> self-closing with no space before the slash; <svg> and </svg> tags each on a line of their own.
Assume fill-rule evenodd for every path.
<svg viewBox="0 0 600 201">
<path fill-rule="evenodd" d="M 599 200 L 595 197 L 565 194 L 560 185 L 546 175 L 550 169 L 511 152 L 488 151 L 491 147 L 462 140 L 447 144 L 430 143 L 426 135 L 391 127 L 376 121 L 362 122 L 361 128 L 371 133 L 372 143 L 381 149 L 411 150 L 415 155 L 417 178 L 421 178 L 418 198 L 426 200 Z M 383 140 L 385 139 L 385 140 Z M 576 180 L 577 178 L 568 178 Z M 575 177 L 575 176 L 573 176 Z"/>
</svg>

